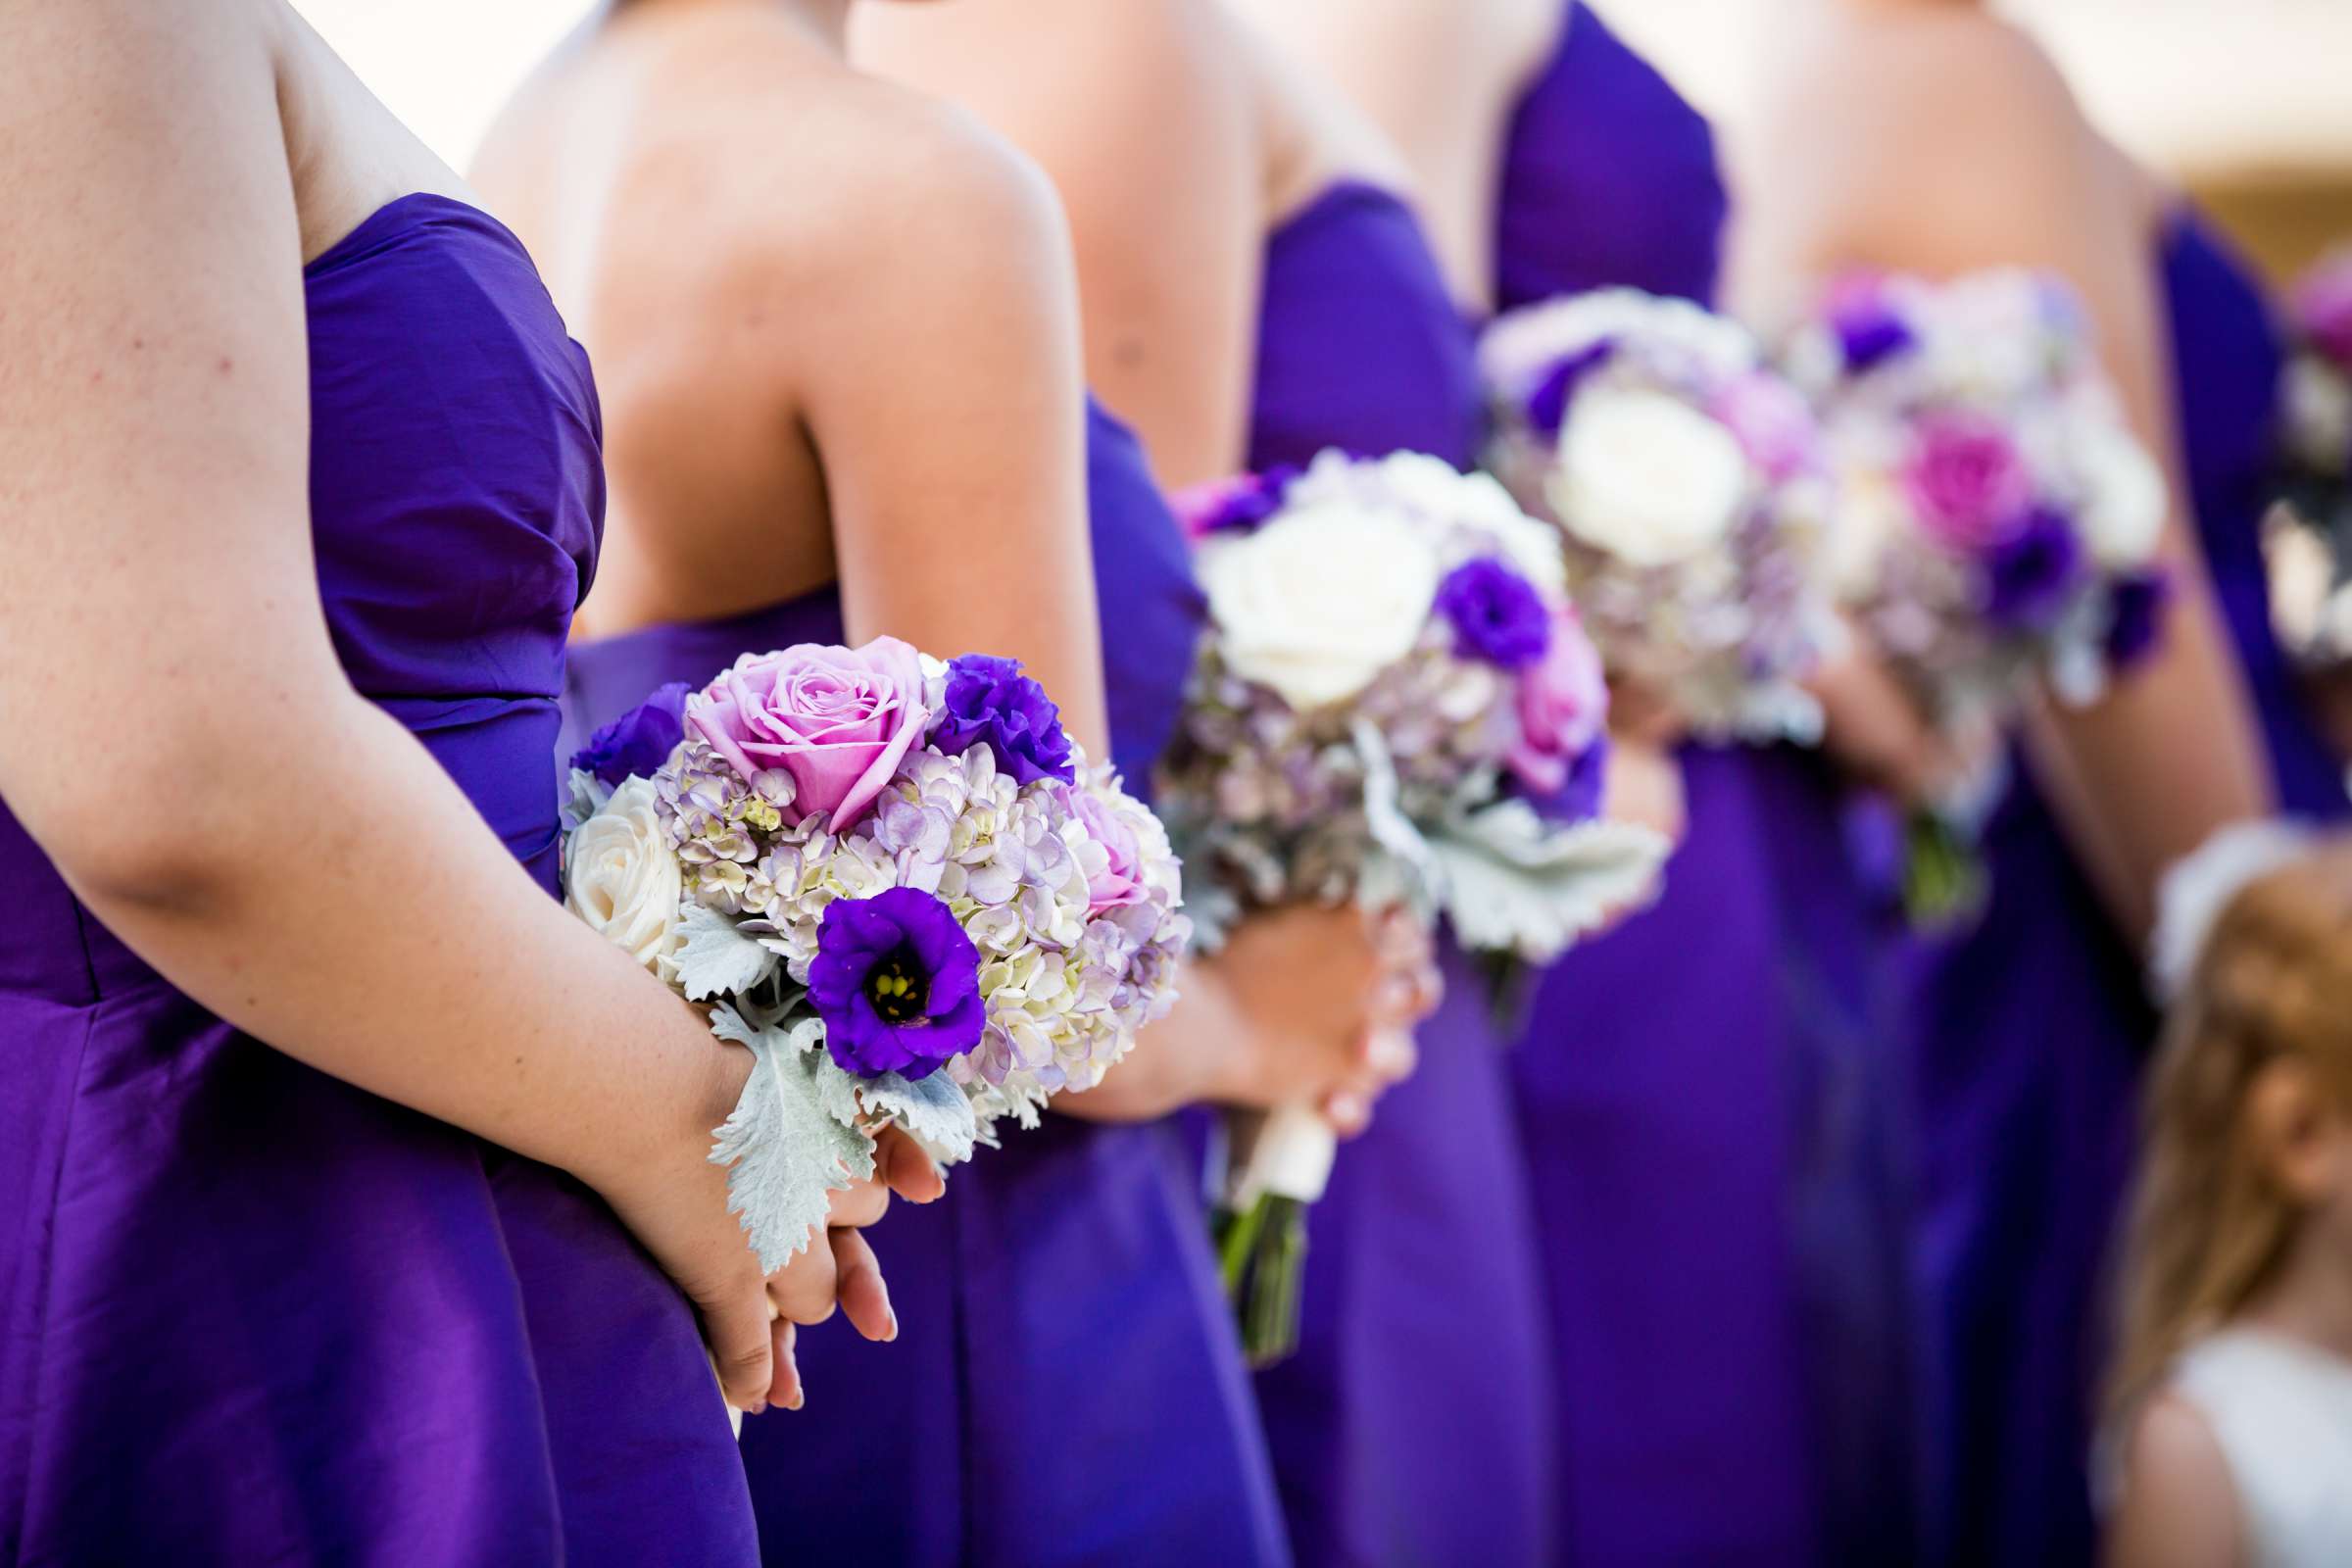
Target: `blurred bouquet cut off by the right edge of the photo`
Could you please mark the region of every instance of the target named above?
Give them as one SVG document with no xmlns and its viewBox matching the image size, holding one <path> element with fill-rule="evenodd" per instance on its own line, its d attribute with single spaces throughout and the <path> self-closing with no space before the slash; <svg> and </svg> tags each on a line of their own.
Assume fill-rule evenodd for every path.
<svg viewBox="0 0 2352 1568">
<path fill-rule="evenodd" d="M 2270 599 L 2288 651 L 2333 665 L 2352 658 L 2352 249 L 2305 273 L 2286 306 Z"/>
</svg>

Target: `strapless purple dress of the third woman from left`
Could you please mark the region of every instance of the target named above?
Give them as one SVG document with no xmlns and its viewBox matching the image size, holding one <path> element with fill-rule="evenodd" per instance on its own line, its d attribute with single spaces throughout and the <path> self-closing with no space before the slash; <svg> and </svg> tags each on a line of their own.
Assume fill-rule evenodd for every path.
<svg viewBox="0 0 2352 1568">
<path fill-rule="evenodd" d="M 1421 226 L 1343 183 L 1268 240 L 1251 468 L 1477 454 L 1470 329 Z M 1550 1559 L 1552 1387 L 1505 1058 L 1446 954 L 1421 1070 L 1308 1211 L 1298 1354 L 1258 1373 L 1301 1563 Z"/>
</svg>

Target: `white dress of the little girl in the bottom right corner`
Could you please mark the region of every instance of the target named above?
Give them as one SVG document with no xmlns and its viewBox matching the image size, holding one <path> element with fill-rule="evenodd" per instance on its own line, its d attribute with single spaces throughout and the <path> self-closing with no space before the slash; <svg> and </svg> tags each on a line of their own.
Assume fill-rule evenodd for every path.
<svg viewBox="0 0 2352 1568">
<path fill-rule="evenodd" d="M 2352 1566 L 2352 1361 L 2227 1328 L 2180 1356 L 2173 1394 L 2220 1441 L 2256 1568 Z"/>
</svg>

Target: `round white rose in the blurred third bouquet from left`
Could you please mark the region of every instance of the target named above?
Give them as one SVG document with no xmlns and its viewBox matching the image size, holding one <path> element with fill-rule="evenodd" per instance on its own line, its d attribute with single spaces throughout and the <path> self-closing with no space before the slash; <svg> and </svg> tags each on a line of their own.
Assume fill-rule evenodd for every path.
<svg viewBox="0 0 2352 1568">
<path fill-rule="evenodd" d="M 1722 423 L 1665 393 L 1602 386 L 1576 397 L 1548 494 L 1595 550 L 1670 567 L 1731 534 L 1748 487 L 1748 454 Z"/>
</svg>

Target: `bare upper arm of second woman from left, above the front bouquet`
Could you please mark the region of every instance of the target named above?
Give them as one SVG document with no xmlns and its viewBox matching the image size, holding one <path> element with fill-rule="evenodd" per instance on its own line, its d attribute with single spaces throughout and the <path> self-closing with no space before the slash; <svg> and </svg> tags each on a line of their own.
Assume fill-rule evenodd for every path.
<svg viewBox="0 0 2352 1568">
<path fill-rule="evenodd" d="M 957 129 L 866 186 L 821 294 L 793 301 L 851 639 L 1021 658 L 1105 755 L 1077 287 L 1054 193 Z"/>
</svg>

